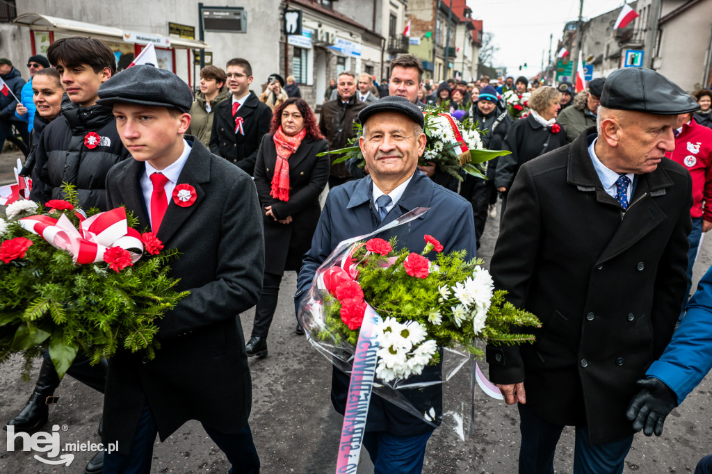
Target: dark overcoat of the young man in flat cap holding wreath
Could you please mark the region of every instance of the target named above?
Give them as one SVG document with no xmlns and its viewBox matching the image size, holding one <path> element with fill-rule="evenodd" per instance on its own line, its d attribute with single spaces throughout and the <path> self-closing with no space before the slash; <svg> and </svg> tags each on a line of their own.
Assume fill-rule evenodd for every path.
<svg viewBox="0 0 712 474">
<path fill-rule="evenodd" d="M 177 248 L 170 263 L 176 290 L 189 290 L 159 322 L 161 347 L 148 360 L 123 349 L 109 360 L 104 397 L 104 443 L 119 441 L 127 454 L 148 404 L 163 441 L 188 420 L 224 433 L 244 428 L 252 389 L 239 314 L 253 307 L 262 290 L 262 218 L 252 179 L 234 164 L 211 155 L 196 138 L 179 176 L 197 192 L 191 206 L 172 200 L 158 230 L 163 251 Z M 124 204 L 146 228 L 135 159 L 107 177 L 109 207 Z"/>
</svg>

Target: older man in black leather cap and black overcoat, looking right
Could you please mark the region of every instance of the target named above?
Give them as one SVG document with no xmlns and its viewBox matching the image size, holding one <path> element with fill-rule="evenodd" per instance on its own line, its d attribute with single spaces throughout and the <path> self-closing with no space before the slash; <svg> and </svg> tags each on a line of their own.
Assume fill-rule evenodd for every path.
<svg viewBox="0 0 712 474">
<path fill-rule="evenodd" d="M 518 402 L 520 473 L 553 472 L 564 426 L 576 427 L 575 473 L 622 472 L 628 403 L 687 285 L 692 184 L 665 153 L 678 115 L 697 108 L 659 73 L 616 70 L 597 128 L 517 174 L 490 272 L 542 327 L 535 344 L 488 347 L 487 362 Z"/>
</svg>

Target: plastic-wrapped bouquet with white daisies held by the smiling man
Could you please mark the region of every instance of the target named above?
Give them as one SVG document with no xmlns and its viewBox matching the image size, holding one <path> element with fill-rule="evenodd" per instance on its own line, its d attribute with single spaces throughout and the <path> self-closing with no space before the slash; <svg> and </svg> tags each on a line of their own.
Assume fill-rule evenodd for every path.
<svg viewBox="0 0 712 474">
<path fill-rule="evenodd" d="M 377 355 L 373 393 L 432 426 L 451 415 L 464 440 L 472 372 L 461 369 L 483 354 L 477 343 L 532 342 L 520 329 L 540 322 L 494 290 L 482 260 L 443 253 L 439 236 L 423 236 L 420 253 L 399 250 L 397 232 L 426 210 L 340 243 L 315 273 L 298 318 L 313 347 L 351 376 L 366 330 Z M 391 229 L 389 241 L 377 237 Z M 441 384 L 459 387 L 455 398 L 444 390 L 445 404 L 427 394 Z"/>
</svg>

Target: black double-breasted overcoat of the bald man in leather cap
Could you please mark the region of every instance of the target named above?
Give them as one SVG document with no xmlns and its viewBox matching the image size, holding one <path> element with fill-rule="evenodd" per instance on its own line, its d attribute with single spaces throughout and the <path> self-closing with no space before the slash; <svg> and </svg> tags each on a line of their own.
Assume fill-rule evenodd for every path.
<svg viewBox="0 0 712 474">
<path fill-rule="evenodd" d="M 545 420 L 593 444 L 633 433 L 637 379 L 670 342 L 686 291 L 689 172 L 663 159 L 623 211 L 588 153 L 595 128 L 524 164 L 491 260 L 495 287 L 542 322 L 534 344 L 488 347 L 491 380 L 524 381 Z M 530 328 L 525 328 L 526 332 Z"/>
</svg>

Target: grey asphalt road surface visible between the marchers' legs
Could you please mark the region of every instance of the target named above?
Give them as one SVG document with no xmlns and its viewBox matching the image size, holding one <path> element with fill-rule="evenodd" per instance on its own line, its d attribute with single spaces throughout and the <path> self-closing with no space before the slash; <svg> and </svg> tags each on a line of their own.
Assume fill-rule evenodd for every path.
<svg viewBox="0 0 712 474">
<path fill-rule="evenodd" d="M 496 236 L 497 218 L 487 223 L 480 256 L 488 265 Z M 712 238 L 704 241 L 695 268 L 696 280 L 712 263 Z M 341 416 L 330 403 L 331 364 L 315 351 L 303 336 L 294 333 L 295 319 L 291 295 L 295 275 L 283 279 L 278 310 L 268 339 L 269 356 L 250 359 L 253 404 L 250 426 L 263 473 L 333 473 Z M 246 334 L 253 313 L 242 315 Z M 486 365 L 482 364 L 486 372 Z M 33 365 L 31 375 L 38 372 Z M 446 388 L 446 410 L 470 416 L 470 379 L 464 369 Z M 0 421 L 9 421 L 25 404 L 33 381 L 21 379 L 21 359 L 0 370 Z M 692 472 L 698 460 L 712 453 L 712 377 L 708 376 L 673 411 L 660 438 L 638 435 L 626 460 L 625 473 Z M 102 410 L 101 395 L 67 377 L 56 394 L 59 403 L 51 406 L 48 430 L 61 429 L 61 443 L 98 443 L 96 433 Z M 181 396 L 177 393 L 176 396 Z M 475 396 L 474 429 L 466 441 L 459 441 L 455 423 L 446 417 L 444 426 L 431 437 L 424 473 L 515 473 L 518 456 L 518 415 L 512 406 L 489 399 L 481 391 Z M 229 409 L 229 407 L 226 407 Z M 81 473 L 92 453 L 75 453 L 73 463 L 49 466 L 33 458 L 32 452 L 7 451 L 6 434 L 0 435 L 0 473 Z M 566 428 L 555 458 L 557 473 L 572 472 L 573 430 Z M 200 424 L 186 423 L 164 443 L 155 445 L 155 473 L 224 473 L 229 469 L 225 456 Z M 373 467 L 362 451 L 359 473 Z"/>
</svg>

